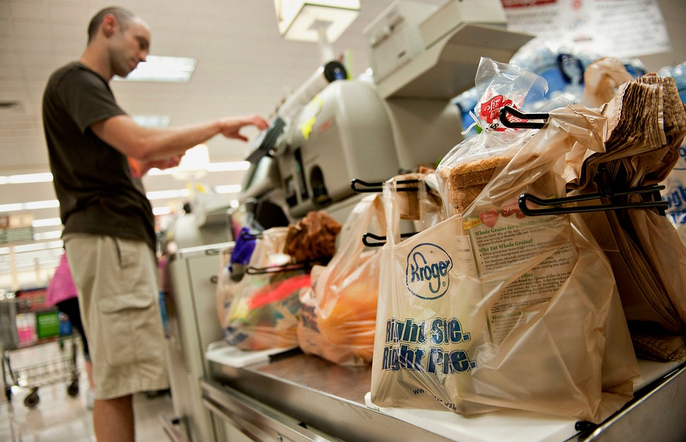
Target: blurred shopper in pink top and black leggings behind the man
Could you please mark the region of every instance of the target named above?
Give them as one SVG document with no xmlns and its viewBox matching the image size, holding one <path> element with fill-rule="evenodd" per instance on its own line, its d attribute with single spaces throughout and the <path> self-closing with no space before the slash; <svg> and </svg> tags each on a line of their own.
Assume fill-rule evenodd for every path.
<svg viewBox="0 0 686 442">
<path fill-rule="evenodd" d="M 81 335 L 81 345 L 83 346 L 83 359 L 86 361 L 86 374 L 88 375 L 88 392 L 86 393 L 86 408 L 93 409 L 95 400 L 95 383 L 93 382 L 93 364 L 91 354 L 88 351 L 88 339 L 83 332 L 81 324 L 81 310 L 79 309 L 78 291 L 74 279 L 71 278 L 69 263 L 66 261 L 66 252 L 59 258 L 59 264 L 47 285 L 45 293 L 45 304 L 56 306 L 59 311 L 69 316 L 71 327 L 76 329 Z"/>
</svg>

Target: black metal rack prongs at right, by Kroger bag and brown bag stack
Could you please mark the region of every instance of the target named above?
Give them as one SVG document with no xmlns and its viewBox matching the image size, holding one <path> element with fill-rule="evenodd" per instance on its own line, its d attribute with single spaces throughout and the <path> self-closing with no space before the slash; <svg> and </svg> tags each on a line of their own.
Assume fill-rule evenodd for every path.
<svg viewBox="0 0 686 442">
<path fill-rule="evenodd" d="M 542 122 L 533 121 L 511 121 L 508 119 L 508 115 L 513 115 L 521 120 L 543 120 Z M 500 121 L 506 127 L 511 127 L 515 129 L 541 129 L 545 126 L 545 120 L 548 119 L 547 113 L 525 113 L 516 110 L 511 106 L 503 106 L 499 112 Z M 660 191 L 665 188 L 663 185 L 649 185 L 643 187 L 634 187 L 627 190 L 618 190 L 613 188 L 608 183 L 611 180 L 607 177 L 607 169 L 602 165 L 598 168 L 595 173 L 593 181 L 598 186 L 598 192 L 593 192 L 589 194 L 574 195 L 571 197 L 561 197 L 561 198 L 550 198 L 542 199 L 535 197 L 532 194 L 523 193 L 520 195 L 518 200 L 519 209 L 523 214 L 528 216 L 542 216 L 542 215 L 559 215 L 559 214 L 572 214 L 572 213 L 582 213 L 591 211 L 607 211 L 616 209 L 639 209 L 644 207 L 655 207 L 658 209 L 658 213 L 662 216 L 665 215 L 666 209 L 669 208 L 669 202 L 663 201 L 660 197 Z M 562 204 L 569 204 L 582 201 L 590 201 L 592 199 L 609 198 L 615 199 L 615 197 L 630 195 L 630 194 L 651 194 L 651 201 L 642 202 L 610 202 L 609 204 L 595 204 L 588 206 L 573 206 L 573 207 L 559 207 Z M 542 207 L 552 207 L 550 209 L 531 209 L 528 207 L 528 202 L 537 204 Z"/>
</svg>

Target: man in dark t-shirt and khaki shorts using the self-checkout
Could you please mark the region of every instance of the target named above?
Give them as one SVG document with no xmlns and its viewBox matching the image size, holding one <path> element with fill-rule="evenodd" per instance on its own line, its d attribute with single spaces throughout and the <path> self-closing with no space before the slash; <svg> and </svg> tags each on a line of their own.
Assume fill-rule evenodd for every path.
<svg viewBox="0 0 686 442">
<path fill-rule="evenodd" d="M 258 115 L 185 127 L 136 124 L 109 81 L 144 62 L 148 25 L 122 8 L 105 8 L 88 26 L 78 62 L 57 69 L 43 95 L 43 124 L 95 376 L 93 426 L 99 442 L 134 441 L 132 394 L 167 388 L 158 308 L 151 204 L 132 181 L 127 157 L 141 168 L 178 165 L 187 149 L 222 134 L 246 141 Z"/>
</svg>

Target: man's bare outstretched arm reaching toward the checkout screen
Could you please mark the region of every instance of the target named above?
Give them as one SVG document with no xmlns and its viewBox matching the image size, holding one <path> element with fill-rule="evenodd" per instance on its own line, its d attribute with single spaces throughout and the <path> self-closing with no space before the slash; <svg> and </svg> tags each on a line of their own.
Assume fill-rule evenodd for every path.
<svg viewBox="0 0 686 442">
<path fill-rule="evenodd" d="M 244 115 L 188 126 L 156 128 L 143 127 L 128 115 L 117 115 L 91 124 L 91 130 L 124 155 L 149 162 L 182 155 L 217 134 L 248 141 L 240 134 L 240 129 L 245 126 L 264 130 L 269 123 L 259 115 Z"/>
</svg>

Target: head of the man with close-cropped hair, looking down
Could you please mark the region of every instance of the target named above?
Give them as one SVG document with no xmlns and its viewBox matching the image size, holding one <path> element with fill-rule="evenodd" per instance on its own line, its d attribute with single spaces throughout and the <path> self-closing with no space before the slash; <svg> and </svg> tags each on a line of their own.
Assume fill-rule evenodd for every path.
<svg viewBox="0 0 686 442">
<path fill-rule="evenodd" d="M 88 46 L 106 53 L 112 76 L 127 76 L 144 62 L 150 48 L 150 29 L 131 11 L 112 6 L 93 16 L 88 25 Z"/>
</svg>

